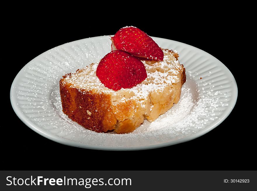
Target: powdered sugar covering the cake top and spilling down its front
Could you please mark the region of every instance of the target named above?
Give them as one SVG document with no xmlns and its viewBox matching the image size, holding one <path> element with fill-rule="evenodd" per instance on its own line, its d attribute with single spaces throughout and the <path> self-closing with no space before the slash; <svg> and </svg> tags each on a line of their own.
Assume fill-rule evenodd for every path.
<svg viewBox="0 0 257 191">
<path fill-rule="evenodd" d="M 82 93 L 87 90 L 93 90 L 96 93 L 110 94 L 113 104 L 122 101 L 125 102 L 125 97 L 133 99 L 137 103 L 140 103 L 140 108 L 144 108 L 145 114 L 149 114 L 149 112 L 151 112 L 151 108 L 149 107 L 152 105 L 149 101 L 150 93 L 153 91 L 162 92 L 164 88 L 168 86 L 173 87 L 174 84 L 180 83 L 178 74 L 183 70 L 183 67 L 173 56 L 173 53 L 175 53 L 175 51 L 173 52 L 166 49 L 164 50 L 163 61 L 142 61 L 147 71 L 147 78 L 132 88 L 121 88 L 119 91 L 114 91 L 105 87 L 96 76 L 96 69 L 100 60 L 74 74 L 68 75 L 64 82 L 70 84 L 72 88 L 79 89 Z"/>
</svg>

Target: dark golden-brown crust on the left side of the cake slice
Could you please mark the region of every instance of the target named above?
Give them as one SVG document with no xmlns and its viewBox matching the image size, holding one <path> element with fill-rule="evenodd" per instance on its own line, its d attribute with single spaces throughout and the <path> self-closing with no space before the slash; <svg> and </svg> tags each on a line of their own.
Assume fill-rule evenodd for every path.
<svg viewBox="0 0 257 191">
<path fill-rule="evenodd" d="M 60 80 L 60 95 L 62 111 L 73 121 L 96 132 L 114 129 L 117 119 L 112 112 L 110 95 L 82 93 L 63 83 L 63 79 Z"/>
</svg>

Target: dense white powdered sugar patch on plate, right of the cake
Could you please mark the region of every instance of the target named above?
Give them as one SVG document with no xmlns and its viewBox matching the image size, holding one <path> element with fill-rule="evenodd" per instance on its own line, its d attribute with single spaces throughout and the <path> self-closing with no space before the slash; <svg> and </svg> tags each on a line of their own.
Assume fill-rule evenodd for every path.
<svg viewBox="0 0 257 191">
<path fill-rule="evenodd" d="M 177 107 L 169 110 L 165 116 L 153 121 L 147 131 L 155 131 L 159 128 L 169 128 L 171 131 L 181 131 L 186 133 L 187 130 L 195 131 L 203 128 L 208 121 L 217 119 L 215 111 L 218 110 L 219 99 L 214 95 L 222 93 L 211 93 L 208 91 L 208 97 L 199 95 L 198 100 L 194 100 L 190 88 L 182 88 L 183 95 Z M 212 117 L 213 116 L 213 117 Z"/>
</svg>

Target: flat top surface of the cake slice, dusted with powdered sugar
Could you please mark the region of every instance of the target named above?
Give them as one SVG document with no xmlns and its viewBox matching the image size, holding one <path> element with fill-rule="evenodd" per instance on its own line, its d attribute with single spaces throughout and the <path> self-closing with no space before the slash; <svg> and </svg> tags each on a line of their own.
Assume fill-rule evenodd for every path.
<svg viewBox="0 0 257 191">
<path fill-rule="evenodd" d="M 168 56 L 168 51 L 164 51 L 164 54 L 166 55 L 162 62 L 153 62 L 152 64 L 152 62 L 142 61 L 147 70 L 147 79 L 130 89 L 122 88 L 121 91 L 133 91 L 135 96 L 141 97 L 144 93 L 151 91 L 152 88 L 163 90 L 167 84 L 172 85 L 179 82 L 177 77 L 179 73 L 178 69 L 182 68 L 179 61 L 174 57 L 171 58 Z M 81 70 L 82 72 L 79 71 L 71 76 L 67 76 L 65 82 L 72 84 L 71 87 L 78 88 L 80 91 L 94 89 L 98 93 L 117 93 L 117 91 L 105 87 L 96 76 L 96 69 L 99 62 L 100 60 L 86 66 L 86 68 Z"/>
</svg>

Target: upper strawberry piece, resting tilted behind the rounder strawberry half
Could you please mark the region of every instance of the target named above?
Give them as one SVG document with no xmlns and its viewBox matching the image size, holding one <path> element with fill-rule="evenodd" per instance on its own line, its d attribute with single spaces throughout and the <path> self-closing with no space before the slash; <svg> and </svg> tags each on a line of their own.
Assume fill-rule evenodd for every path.
<svg viewBox="0 0 257 191">
<path fill-rule="evenodd" d="M 162 49 L 145 32 L 136 27 L 123 27 L 111 37 L 112 50 L 121 50 L 150 60 L 163 60 Z M 145 60 L 144 59 L 144 60 Z"/>
</svg>

